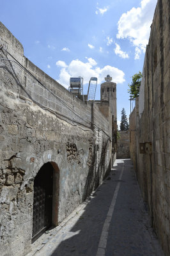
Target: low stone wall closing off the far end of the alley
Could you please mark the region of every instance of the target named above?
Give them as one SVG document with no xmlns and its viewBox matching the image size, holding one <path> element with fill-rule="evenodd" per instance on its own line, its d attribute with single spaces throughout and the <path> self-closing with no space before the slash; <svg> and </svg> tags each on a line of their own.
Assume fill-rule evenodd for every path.
<svg viewBox="0 0 170 256">
<path fill-rule="evenodd" d="M 119 131 L 120 138 L 118 138 L 118 159 L 130 158 L 129 151 L 129 131 Z"/>
</svg>

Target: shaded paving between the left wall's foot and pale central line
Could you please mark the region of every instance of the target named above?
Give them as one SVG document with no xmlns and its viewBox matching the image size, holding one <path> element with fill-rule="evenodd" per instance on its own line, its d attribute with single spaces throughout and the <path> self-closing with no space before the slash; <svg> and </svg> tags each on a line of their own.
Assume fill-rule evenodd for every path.
<svg viewBox="0 0 170 256">
<path fill-rule="evenodd" d="M 125 164 L 128 165 L 129 163 L 131 164 L 131 161 L 127 160 Z M 117 179 L 117 176 L 115 173 L 121 167 L 122 163 L 114 167 L 115 171 L 113 170 L 114 173 L 112 173 L 111 179 L 105 180 L 102 186 L 93 194 L 92 198 L 89 198 L 90 202 L 84 209 L 84 213 L 69 232 L 63 233 L 63 241 L 50 254 L 51 256 L 93 256 L 97 254 L 100 235 L 109 209 L 108 206 L 111 205 L 112 196 L 116 188 L 114 179 Z M 111 180 L 113 183 L 110 183 Z M 106 183 L 107 186 L 105 186 Z M 70 237 L 66 239 L 66 236 Z"/>
</svg>

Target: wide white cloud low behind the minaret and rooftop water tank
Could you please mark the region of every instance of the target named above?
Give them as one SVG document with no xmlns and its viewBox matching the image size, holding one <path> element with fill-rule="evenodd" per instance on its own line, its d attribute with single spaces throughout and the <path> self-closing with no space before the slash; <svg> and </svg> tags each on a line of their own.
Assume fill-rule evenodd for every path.
<svg viewBox="0 0 170 256">
<path fill-rule="evenodd" d="M 86 58 L 87 62 L 80 60 L 72 60 L 66 67 L 61 68 L 58 82 L 68 88 L 70 77 L 84 77 L 84 84 L 89 83 L 90 77 L 97 77 L 98 83 L 104 81 L 104 77 L 108 74 L 112 77 L 115 83 L 123 83 L 125 81 L 125 74 L 122 70 L 111 67 L 109 65 L 100 68 L 97 66 L 97 62 L 93 58 Z M 64 61 L 58 61 L 57 63 L 65 63 Z M 65 63 L 66 65 L 66 63 Z"/>
</svg>

